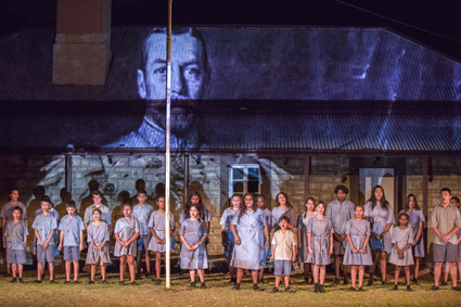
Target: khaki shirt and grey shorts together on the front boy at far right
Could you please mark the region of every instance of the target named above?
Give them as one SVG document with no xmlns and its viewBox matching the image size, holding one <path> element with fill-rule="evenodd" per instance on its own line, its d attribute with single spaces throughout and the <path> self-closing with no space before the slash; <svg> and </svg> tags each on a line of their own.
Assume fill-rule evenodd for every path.
<svg viewBox="0 0 461 307">
<path fill-rule="evenodd" d="M 461 227 L 459 209 L 449 204 L 446 208 L 439 204 L 432 210 L 431 228 L 437 227 L 441 234 L 449 233 L 456 226 Z M 459 258 L 457 234 L 444 243 L 438 235 L 434 235 L 433 254 L 434 263 L 454 263 Z"/>
</svg>

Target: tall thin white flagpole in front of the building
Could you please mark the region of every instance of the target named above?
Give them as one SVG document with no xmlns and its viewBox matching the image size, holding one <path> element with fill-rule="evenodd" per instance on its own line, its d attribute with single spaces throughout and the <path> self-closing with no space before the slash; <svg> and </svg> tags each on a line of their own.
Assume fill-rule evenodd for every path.
<svg viewBox="0 0 461 307">
<path fill-rule="evenodd" d="M 167 47 L 166 47 L 166 131 L 165 131 L 165 243 L 166 243 L 166 259 L 165 259 L 165 273 L 166 273 L 166 289 L 170 289 L 170 250 L 171 242 L 169 239 L 170 231 L 170 204 L 169 204 L 169 187 L 170 187 L 170 153 L 169 153 L 169 139 L 170 139 L 170 103 L 171 103 L 171 4 L 172 0 L 168 0 L 168 28 L 167 28 Z"/>
</svg>

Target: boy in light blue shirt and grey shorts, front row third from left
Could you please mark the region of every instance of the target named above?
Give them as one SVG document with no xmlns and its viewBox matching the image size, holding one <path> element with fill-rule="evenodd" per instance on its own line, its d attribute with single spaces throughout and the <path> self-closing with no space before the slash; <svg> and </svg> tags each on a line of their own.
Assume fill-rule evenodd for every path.
<svg viewBox="0 0 461 307">
<path fill-rule="evenodd" d="M 74 201 L 67 202 L 67 215 L 61 219 L 57 228 L 61 231 L 59 250 L 62 251 L 64 246 L 64 260 L 66 261 L 66 281 L 64 283 L 71 283 L 71 265 L 74 264 L 74 284 L 78 284 L 78 261 L 80 252 L 84 250 L 85 230 L 81 217 L 75 215 L 76 209 Z"/>
</svg>

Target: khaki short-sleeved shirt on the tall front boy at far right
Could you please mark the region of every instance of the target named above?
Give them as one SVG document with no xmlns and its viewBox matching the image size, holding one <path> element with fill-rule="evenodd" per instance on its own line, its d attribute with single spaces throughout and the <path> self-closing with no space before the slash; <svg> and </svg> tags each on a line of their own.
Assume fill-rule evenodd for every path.
<svg viewBox="0 0 461 307">
<path fill-rule="evenodd" d="M 456 226 L 461 227 L 460 212 L 457 207 L 449 204 L 445 208 L 443 204 L 439 204 L 432 210 L 431 228 L 437 227 L 441 234 L 447 234 Z M 448 242 L 458 245 L 457 233 L 452 234 Z M 437 234 L 434 235 L 434 244 L 445 245 Z"/>
</svg>

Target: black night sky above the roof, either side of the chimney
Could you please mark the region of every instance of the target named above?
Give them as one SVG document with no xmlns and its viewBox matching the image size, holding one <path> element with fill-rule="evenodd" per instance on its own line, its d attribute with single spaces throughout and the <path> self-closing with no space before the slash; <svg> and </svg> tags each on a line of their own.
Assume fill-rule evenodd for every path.
<svg viewBox="0 0 461 307">
<path fill-rule="evenodd" d="M 443 38 L 334 0 L 175 0 L 176 25 L 388 27 L 461 61 L 460 0 L 342 0 Z M 112 0 L 113 26 L 166 25 L 167 0 Z M 0 1 L 0 36 L 22 27 L 54 27 L 56 0 Z M 458 40 L 458 41 L 456 41 Z"/>
</svg>

